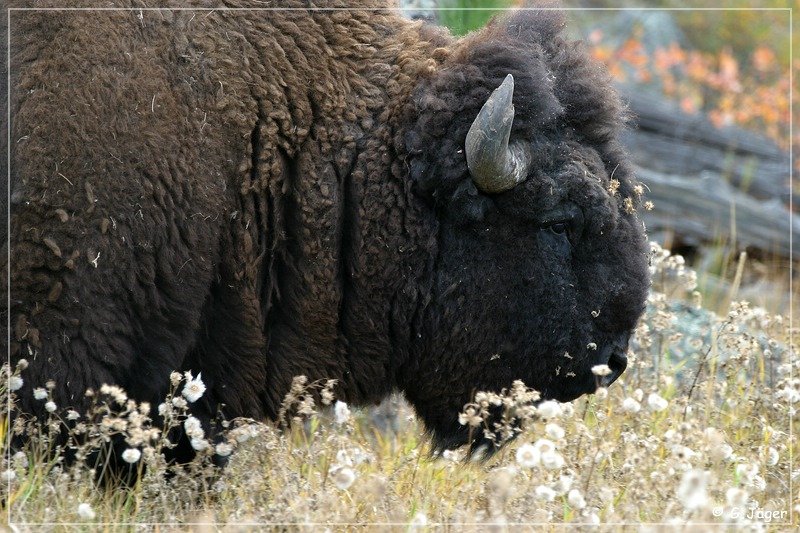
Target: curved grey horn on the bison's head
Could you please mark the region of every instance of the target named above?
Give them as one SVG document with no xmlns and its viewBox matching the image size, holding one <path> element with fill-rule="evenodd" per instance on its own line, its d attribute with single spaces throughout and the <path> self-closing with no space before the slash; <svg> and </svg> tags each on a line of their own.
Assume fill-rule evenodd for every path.
<svg viewBox="0 0 800 533">
<path fill-rule="evenodd" d="M 467 167 L 472 181 L 483 192 L 512 189 L 525 180 L 531 163 L 527 145 L 509 145 L 514 122 L 514 76 L 509 74 L 483 104 L 467 133 Z"/>
</svg>

